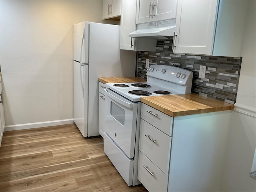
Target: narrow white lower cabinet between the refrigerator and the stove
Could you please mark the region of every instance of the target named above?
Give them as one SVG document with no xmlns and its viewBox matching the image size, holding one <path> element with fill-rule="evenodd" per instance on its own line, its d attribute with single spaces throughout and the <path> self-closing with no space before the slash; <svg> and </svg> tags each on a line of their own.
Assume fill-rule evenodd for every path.
<svg viewBox="0 0 256 192">
<path fill-rule="evenodd" d="M 105 84 L 99 82 L 99 134 L 103 137 L 104 129 L 104 116 L 105 116 Z"/>
</svg>

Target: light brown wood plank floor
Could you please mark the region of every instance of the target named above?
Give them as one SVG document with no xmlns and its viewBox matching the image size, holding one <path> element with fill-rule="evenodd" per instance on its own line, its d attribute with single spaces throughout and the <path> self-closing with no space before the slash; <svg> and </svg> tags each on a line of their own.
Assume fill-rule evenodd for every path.
<svg viewBox="0 0 256 192">
<path fill-rule="evenodd" d="M 0 191 L 147 191 L 127 186 L 103 151 L 75 124 L 4 132 Z"/>
</svg>

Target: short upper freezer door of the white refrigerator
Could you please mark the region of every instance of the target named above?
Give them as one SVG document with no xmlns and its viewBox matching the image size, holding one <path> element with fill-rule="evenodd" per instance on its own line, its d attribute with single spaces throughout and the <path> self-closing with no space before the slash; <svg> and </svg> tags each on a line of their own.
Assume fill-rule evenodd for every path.
<svg viewBox="0 0 256 192">
<path fill-rule="evenodd" d="M 73 57 L 81 64 L 89 63 L 89 22 L 73 26 Z"/>
</svg>

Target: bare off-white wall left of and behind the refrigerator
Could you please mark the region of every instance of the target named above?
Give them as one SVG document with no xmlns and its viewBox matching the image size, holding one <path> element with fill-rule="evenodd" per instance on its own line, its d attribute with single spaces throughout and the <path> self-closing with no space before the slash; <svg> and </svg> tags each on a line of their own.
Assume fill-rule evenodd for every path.
<svg viewBox="0 0 256 192">
<path fill-rule="evenodd" d="M 7 130 L 72 119 L 73 24 L 101 23 L 102 0 L 1 0 L 0 18 Z"/>
</svg>

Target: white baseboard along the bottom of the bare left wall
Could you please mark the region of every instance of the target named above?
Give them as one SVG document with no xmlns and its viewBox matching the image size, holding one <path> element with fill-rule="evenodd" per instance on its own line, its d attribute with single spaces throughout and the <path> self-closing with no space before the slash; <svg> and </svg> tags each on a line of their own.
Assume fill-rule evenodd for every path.
<svg viewBox="0 0 256 192">
<path fill-rule="evenodd" d="M 26 123 L 26 124 L 16 124 L 16 125 L 7 125 L 5 126 L 4 131 L 13 131 L 13 130 L 22 130 L 22 129 L 32 129 L 56 125 L 65 125 L 74 123 L 74 119 L 63 119 L 55 121 L 45 121 L 45 122 L 35 122 L 35 123 Z"/>
</svg>

